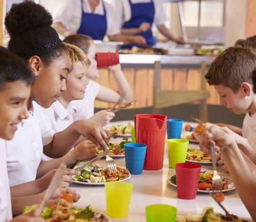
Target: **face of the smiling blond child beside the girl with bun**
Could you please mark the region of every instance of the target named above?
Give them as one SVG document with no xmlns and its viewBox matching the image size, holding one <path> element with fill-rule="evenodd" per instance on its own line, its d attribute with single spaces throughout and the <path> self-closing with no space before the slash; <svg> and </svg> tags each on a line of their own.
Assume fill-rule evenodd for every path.
<svg viewBox="0 0 256 222">
<path fill-rule="evenodd" d="M 72 100 L 82 100 L 86 92 L 88 78 L 86 77 L 87 67 L 83 62 L 78 62 L 73 70 L 69 73 L 66 86 L 67 90 L 61 93 L 61 96 L 68 102 Z"/>
</svg>

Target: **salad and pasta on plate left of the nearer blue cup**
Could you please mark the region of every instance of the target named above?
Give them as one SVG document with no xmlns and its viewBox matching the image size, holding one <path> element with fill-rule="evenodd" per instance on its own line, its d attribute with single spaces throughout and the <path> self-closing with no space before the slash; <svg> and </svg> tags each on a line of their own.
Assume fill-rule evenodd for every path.
<svg viewBox="0 0 256 222">
<path fill-rule="evenodd" d="M 81 169 L 80 175 L 74 176 L 73 180 L 86 183 L 106 183 L 123 180 L 130 176 L 128 169 L 123 169 L 118 166 L 116 168 L 117 172 L 111 172 L 109 168 L 90 164 Z"/>
</svg>

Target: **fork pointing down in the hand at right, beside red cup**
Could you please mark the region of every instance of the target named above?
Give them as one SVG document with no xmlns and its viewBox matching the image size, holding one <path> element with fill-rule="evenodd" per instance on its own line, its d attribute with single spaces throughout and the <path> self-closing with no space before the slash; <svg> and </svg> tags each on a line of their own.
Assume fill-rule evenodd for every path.
<svg viewBox="0 0 256 222">
<path fill-rule="evenodd" d="M 209 133 L 212 133 L 211 128 L 208 130 Z M 212 181 L 211 181 L 211 189 L 212 193 L 216 194 L 216 196 L 221 194 L 222 191 L 222 179 L 220 175 L 217 172 L 217 167 L 216 167 L 216 157 L 215 157 L 215 149 L 214 146 L 210 146 L 210 154 L 211 154 L 211 159 L 212 159 L 212 167 L 214 168 L 214 175 L 212 176 Z"/>
</svg>

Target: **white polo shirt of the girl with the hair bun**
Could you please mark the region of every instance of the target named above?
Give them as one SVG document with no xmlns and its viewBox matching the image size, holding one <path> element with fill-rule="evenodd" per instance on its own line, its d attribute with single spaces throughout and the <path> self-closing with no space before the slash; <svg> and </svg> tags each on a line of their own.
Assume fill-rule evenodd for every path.
<svg viewBox="0 0 256 222">
<path fill-rule="evenodd" d="M 19 124 L 14 138 L 6 141 L 10 186 L 35 180 L 43 145 L 49 144 L 55 133 L 42 108 L 34 101 L 32 104 L 29 117 Z"/>
</svg>

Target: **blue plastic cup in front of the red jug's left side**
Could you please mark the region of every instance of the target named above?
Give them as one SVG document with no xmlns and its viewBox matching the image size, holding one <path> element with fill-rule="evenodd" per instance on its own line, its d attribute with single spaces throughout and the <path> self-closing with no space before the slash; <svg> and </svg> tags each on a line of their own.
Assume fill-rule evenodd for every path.
<svg viewBox="0 0 256 222">
<path fill-rule="evenodd" d="M 146 154 L 146 144 L 138 142 L 124 143 L 124 153 L 125 166 L 129 169 L 130 174 L 142 174 Z"/>
</svg>

